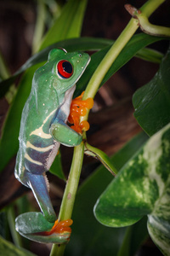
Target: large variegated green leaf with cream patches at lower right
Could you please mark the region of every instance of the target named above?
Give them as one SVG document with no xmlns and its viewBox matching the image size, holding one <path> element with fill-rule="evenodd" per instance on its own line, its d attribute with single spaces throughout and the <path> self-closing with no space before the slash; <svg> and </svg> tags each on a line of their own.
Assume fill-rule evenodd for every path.
<svg viewBox="0 0 170 256">
<path fill-rule="evenodd" d="M 164 255 L 170 253 L 170 124 L 158 131 L 99 197 L 100 223 L 123 227 L 148 215 L 148 230 Z"/>
</svg>

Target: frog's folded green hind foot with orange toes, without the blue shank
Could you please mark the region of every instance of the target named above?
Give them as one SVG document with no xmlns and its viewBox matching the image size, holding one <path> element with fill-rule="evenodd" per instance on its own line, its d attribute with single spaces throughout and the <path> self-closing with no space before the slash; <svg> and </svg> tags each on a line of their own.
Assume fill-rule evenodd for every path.
<svg viewBox="0 0 170 256">
<path fill-rule="evenodd" d="M 15 228 L 21 236 L 45 243 L 65 243 L 71 236 L 71 219 L 49 223 L 41 212 L 26 212 L 16 218 Z"/>
</svg>

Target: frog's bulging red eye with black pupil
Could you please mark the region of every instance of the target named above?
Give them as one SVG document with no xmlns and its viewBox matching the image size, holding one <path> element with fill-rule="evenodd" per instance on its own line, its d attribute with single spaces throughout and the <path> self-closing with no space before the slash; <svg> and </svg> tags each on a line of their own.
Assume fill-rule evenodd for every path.
<svg viewBox="0 0 170 256">
<path fill-rule="evenodd" d="M 71 62 L 65 60 L 59 61 L 57 65 L 57 71 L 59 73 L 59 76 L 63 79 L 71 78 L 71 75 L 73 73 L 73 67 L 71 65 Z"/>
</svg>

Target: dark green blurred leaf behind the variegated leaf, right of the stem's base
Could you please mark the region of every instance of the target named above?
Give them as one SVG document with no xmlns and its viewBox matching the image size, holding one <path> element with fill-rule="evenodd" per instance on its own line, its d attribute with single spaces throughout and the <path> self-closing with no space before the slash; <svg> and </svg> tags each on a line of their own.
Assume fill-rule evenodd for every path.
<svg viewBox="0 0 170 256">
<path fill-rule="evenodd" d="M 144 133 L 139 134 L 111 157 L 113 164 L 117 166 L 118 170 L 132 157 L 147 138 Z M 78 190 L 73 210 L 71 241 L 66 247 L 66 255 L 110 256 L 111 254 L 116 255 L 116 253 L 118 253 L 122 246 L 126 229 L 111 229 L 105 227 L 96 221 L 93 213 L 95 201 L 111 182 L 112 178 L 111 173 L 107 172 L 104 166 L 99 166 L 99 168 L 82 183 Z M 139 224 L 137 226 L 139 226 Z M 135 229 L 137 229 L 137 226 L 135 226 Z M 141 226 L 142 230 L 143 227 L 144 225 Z M 144 234 L 141 229 L 138 230 L 139 232 L 135 235 L 136 237 L 139 237 L 139 234 Z M 131 250 L 133 251 L 139 246 L 138 239 L 136 239 L 135 242 L 133 243 L 132 241 L 133 248 L 131 247 Z"/>
</svg>

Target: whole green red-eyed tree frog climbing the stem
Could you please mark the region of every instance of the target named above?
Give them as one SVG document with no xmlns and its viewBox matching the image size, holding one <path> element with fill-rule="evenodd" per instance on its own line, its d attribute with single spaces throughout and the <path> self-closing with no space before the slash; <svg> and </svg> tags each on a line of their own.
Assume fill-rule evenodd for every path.
<svg viewBox="0 0 170 256">
<path fill-rule="evenodd" d="M 86 53 L 52 49 L 48 62 L 34 74 L 31 94 L 22 112 L 14 173 L 31 188 L 41 212 L 21 214 L 15 227 L 20 235 L 33 241 L 65 243 L 71 235 L 72 220 L 57 220 L 45 172 L 52 165 L 60 143 L 74 147 L 82 142 L 81 133 L 66 122 L 76 82 L 89 61 Z"/>
</svg>

